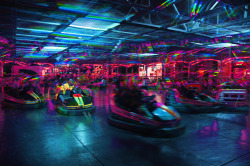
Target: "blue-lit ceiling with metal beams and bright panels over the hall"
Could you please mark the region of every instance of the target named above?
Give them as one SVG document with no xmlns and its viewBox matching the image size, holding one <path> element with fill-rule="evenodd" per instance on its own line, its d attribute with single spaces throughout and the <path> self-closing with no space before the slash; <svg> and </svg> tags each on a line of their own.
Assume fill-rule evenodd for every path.
<svg viewBox="0 0 250 166">
<path fill-rule="evenodd" d="M 247 0 L 2 0 L 0 58 L 82 64 L 245 56 L 248 6 Z"/>
</svg>

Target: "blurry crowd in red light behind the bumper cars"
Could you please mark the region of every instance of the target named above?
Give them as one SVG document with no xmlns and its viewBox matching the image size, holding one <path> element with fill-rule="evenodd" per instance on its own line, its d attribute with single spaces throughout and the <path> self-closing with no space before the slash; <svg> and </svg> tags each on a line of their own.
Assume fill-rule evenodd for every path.
<svg viewBox="0 0 250 166">
<path fill-rule="evenodd" d="M 116 88 L 120 88 L 121 86 L 127 87 L 138 87 L 138 83 L 142 80 L 138 76 L 113 76 L 113 77 L 89 77 L 86 75 L 76 76 L 73 74 L 61 74 L 61 75 L 47 75 L 44 77 L 40 77 L 38 75 L 19 75 L 12 77 L 4 77 L 0 81 L 1 87 L 12 87 L 17 92 L 27 92 L 34 91 L 35 93 L 40 93 L 46 95 L 48 94 L 49 88 L 54 90 L 54 93 L 62 90 L 65 92 L 67 89 L 72 89 L 70 87 L 80 87 L 82 85 L 86 85 L 90 82 L 98 82 L 100 80 L 105 80 L 108 84 L 114 84 Z M 154 80 L 156 82 L 157 89 L 160 87 L 162 90 L 166 90 L 168 88 L 175 88 L 179 90 L 179 92 L 186 92 L 187 85 L 190 83 L 186 80 L 182 81 L 171 81 L 166 86 L 166 81 L 164 79 Z M 210 95 L 216 96 L 216 93 L 219 89 L 222 88 L 231 88 L 231 89 L 248 89 L 250 88 L 250 80 L 247 79 L 239 79 L 239 80 L 221 80 L 224 83 L 218 84 L 218 80 L 203 80 L 200 82 L 202 92 Z M 53 91 L 52 91 L 53 92 Z M 190 92 L 191 93 L 191 92 Z M 193 92 L 193 94 L 195 94 Z M 186 94 L 192 96 L 192 94 Z"/>
</svg>

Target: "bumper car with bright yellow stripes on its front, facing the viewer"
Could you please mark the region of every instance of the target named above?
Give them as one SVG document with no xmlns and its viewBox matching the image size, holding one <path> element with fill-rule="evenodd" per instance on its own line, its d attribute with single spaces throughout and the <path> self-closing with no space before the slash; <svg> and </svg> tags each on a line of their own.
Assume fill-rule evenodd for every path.
<svg viewBox="0 0 250 166">
<path fill-rule="evenodd" d="M 56 97 L 56 110 L 63 115 L 84 115 L 95 110 L 93 97 L 88 90 L 73 88 L 72 90 L 59 91 Z"/>
</svg>

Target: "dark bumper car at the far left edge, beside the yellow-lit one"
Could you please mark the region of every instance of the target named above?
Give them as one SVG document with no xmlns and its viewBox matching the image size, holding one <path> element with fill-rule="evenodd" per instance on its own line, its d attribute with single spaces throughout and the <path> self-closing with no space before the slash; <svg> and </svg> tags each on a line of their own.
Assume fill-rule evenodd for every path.
<svg viewBox="0 0 250 166">
<path fill-rule="evenodd" d="M 24 88 L 25 89 L 25 88 Z M 18 91 L 12 87 L 4 87 L 2 106 L 15 109 L 37 109 L 47 103 L 41 94 L 30 90 Z"/>
</svg>

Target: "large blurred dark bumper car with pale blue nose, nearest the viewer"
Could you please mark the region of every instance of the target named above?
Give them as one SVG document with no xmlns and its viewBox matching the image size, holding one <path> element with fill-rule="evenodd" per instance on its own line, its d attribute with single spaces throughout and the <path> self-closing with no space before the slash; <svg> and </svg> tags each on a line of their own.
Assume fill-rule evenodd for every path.
<svg viewBox="0 0 250 166">
<path fill-rule="evenodd" d="M 185 126 L 181 124 L 179 113 L 171 107 L 157 103 L 154 97 L 143 96 L 140 106 L 131 107 L 122 103 L 127 101 L 126 96 L 111 96 L 108 123 L 117 128 L 153 137 L 176 137 L 184 134 Z M 131 98 L 131 101 L 134 100 Z"/>
</svg>

